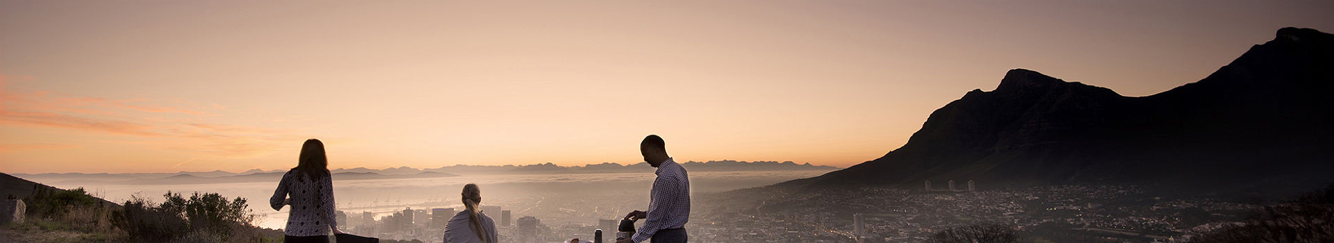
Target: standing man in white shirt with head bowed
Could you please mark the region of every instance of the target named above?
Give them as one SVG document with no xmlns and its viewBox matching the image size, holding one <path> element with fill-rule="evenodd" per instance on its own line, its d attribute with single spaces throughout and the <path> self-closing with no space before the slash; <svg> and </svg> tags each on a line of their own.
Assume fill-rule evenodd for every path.
<svg viewBox="0 0 1334 243">
<path fill-rule="evenodd" d="M 658 167 L 658 179 L 654 179 L 654 188 L 648 192 L 648 212 L 634 211 L 626 219 L 646 219 L 630 239 L 616 240 L 616 243 L 640 243 L 654 239 L 654 243 L 684 243 L 686 222 L 690 219 L 690 178 L 686 168 L 667 156 L 663 138 L 648 135 L 639 143 L 639 152 L 644 155 L 648 166 Z"/>
</svg>

